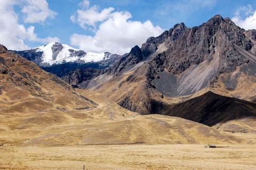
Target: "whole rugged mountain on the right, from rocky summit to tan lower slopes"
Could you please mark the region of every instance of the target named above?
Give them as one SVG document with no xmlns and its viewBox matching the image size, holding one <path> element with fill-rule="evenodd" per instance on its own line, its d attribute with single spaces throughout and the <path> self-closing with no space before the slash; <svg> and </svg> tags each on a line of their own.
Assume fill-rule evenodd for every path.
<svg viewBox="0 0 256 170">
<path fill-rule="evenodd" d="M 157 113 L 157 103 L 178 103 L 209 90 L 253 101 L 255 32 L 220 15 L 198 27 L 177 24 L 149 38 L 141 49 L 134 47 L 136 55 L 121 56 L 123 60 L 93 77 L 91 83 L 86 80 L 86 88 L 141 114 Z"/>
</svg>

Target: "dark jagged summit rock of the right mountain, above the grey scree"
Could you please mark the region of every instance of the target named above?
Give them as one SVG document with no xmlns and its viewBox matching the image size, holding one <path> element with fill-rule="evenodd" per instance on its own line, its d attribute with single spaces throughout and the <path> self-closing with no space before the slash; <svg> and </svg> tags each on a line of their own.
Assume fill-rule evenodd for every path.
<svg viewBox="0 0 256 170">
<path fill-rule="evenodd" d="M 228 18 L 223 19 L 216 15 L 198 27 L 187 28 L 182 24 L 175 25 L 174 28 L 176 29 L 170 31 L 175 32 L 177 28 L 181 28 L 178 29 L 179 34 L 172 32 L 170 35 L 166 32 L 157 38 L 160 39 L 158 41 L 165 39 L 165 44 L 169 47 L 150 63 L 158 71 L 166 68 L 172 74 L 180 74 L 191 65 L 205 60 L 210 62 L 216 52 L 221 57 L 220 73 L 233 72 L 236 66 L 248 62 L 238 54 L 234 45 L 250 50 L 253 44 L 245 37 L 245 30 L 237 27 Z M 170 37 L 165 38 L 166 35 Z M 149 46 L 148 44 L 146 45 Z"/>
</svg>

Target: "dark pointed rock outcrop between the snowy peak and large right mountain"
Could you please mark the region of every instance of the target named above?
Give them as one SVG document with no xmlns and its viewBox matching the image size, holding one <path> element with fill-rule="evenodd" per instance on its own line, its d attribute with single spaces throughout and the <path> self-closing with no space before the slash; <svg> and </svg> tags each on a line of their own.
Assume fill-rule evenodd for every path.
<svg viewBox="0 0 256 170">
<path fill-rule="evenodd" d="M 143 60 L 140 47 L 135 46 L 131 52 L 119 57 L 120 59 L 108 69 L 108 74 L 119 75 L 132 69 L 136 64 Z"/>
</svg>

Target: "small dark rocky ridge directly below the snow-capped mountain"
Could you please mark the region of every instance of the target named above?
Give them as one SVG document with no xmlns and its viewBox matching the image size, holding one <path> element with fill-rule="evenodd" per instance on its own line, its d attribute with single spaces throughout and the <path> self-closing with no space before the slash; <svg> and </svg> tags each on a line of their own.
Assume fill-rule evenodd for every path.
<svg viewBox="0 0 256 170">
<path fill-rule="evenodd" d="M 71 84 L 74 87 L 78 87 L 80 83 L 87 80 L 92 80 L 95 77 L 98 77 L 103 70 L 98 69 L 76 69 L 69 72 L 67 75 L 63 76 L 61 79 Z"/>
</svg>

